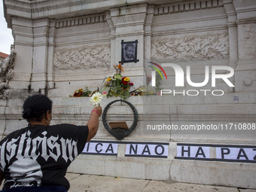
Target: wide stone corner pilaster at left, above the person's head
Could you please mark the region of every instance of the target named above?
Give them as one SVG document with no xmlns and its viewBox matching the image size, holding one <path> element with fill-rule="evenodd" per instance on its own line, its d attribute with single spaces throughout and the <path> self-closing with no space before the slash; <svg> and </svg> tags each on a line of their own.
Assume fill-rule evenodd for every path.
<svg viewBox="0 0 256 192">
<path fill-rule="evenodd" d="M 54 23 L 51 23 L 48 41 L 48 19 L 26 20 L 12 18 L 14 49 L 17 50 L 17 62 L 14 66 L 14 78 L 10 81 L 14 92 L 17 90 L 45 90 L 47 76 L 53 81 L 53 35 Z M 49 45 L 49 47 L 48 47 Z M 48 53 L 49 56 L 48 56 Z M 49 66 L 47 63 L 49 62 Z M 49 84 L 53 87 L 53 83 Z M 15 95 L 15 93 L 14 93 Z"/>
</svg>

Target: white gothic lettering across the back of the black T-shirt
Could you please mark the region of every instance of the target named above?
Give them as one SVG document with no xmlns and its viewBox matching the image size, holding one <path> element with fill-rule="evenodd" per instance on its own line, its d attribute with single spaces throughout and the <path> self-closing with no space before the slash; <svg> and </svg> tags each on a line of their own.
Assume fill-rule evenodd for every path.
<svg viewBox="0 0 256 192">
<path fill-rule="evenodd" d="M 60 158 L 68 162 L 78 156 L 77 142 L 73 139 L 63 139 L 59 136 L 46 137 L 47 132 L 41 133 L 41 136 L 31 138 L 31 132 L 27 131 L 17 139 L 9 139 L 2 144 L 0 161 L 1 166 L 5 167 L 6 163 L 10 164 L 16 160 L 34 159 L 39 156 L 45 161 L 49 157 L 57 161 Z"/>
</svg>

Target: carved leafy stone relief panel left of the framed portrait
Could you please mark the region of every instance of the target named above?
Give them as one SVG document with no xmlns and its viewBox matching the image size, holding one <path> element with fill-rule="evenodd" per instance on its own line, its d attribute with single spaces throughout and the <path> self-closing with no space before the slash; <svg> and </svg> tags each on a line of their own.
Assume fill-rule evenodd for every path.
<svg viewBox="0 0 256 192">
<path fill-rule="evenodd" d="M 55 71 L 78 71 L 108 68 L 110 44 L 86 45 L 80 48 L 56 50 L 53 68 Z"/>
</svg>

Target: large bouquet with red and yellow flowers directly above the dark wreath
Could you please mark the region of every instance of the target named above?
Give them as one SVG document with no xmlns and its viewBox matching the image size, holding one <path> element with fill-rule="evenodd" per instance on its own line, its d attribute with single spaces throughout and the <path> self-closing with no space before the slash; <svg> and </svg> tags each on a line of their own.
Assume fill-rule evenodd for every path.
<svg viewBox="0 0 256 192">
<path fill-rule="evenodd" d="M 103 81 L 102 93 L 106 92 L 107 96 L 120 96 L 125 100 L 131 96 L 129 90 L 133 83 L 130 82 L 130 78 L 120 75 L 120 72 L 123 72 L 121 63 L 118 66 L 114 66 L 114 68 L 117 73 Z"/>
</svg>

